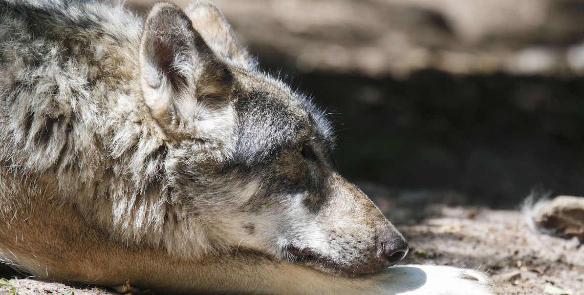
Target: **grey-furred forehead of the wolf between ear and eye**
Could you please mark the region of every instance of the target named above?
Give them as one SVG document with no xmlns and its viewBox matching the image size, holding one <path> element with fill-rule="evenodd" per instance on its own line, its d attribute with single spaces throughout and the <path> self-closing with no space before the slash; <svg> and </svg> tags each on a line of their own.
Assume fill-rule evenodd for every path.
<svg viewBox="0 0 584 295">
<path fill-rule="evenodd" d="M 323 152 L 335 147 L 331 123 L 310 98 L 288 89 L 266 74 L 251 91 L 234 91 L 238 113 L 237 154 L 254 161 L 296 145 L 319 145 Z M 270 87 L 265 81 L 280 84 Z"/>
</svg>

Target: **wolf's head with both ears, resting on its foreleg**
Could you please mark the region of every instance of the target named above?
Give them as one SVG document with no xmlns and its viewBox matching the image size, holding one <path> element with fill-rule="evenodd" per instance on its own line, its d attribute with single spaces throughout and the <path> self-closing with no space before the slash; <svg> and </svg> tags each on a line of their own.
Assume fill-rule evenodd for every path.
<svg viewBox="0 0 584 295">
<path fill-rule="evenodd" d="M 343 275 L 405 256 L 402 235 L 336 170 L 324 114 L 260 71 L 213 5 L 155 5 L 138 58 L 144 104 L 165 134 L 171 199 L 182 208 L 175 221 L 204 228 L 184 239 Z"/>
</svg>

